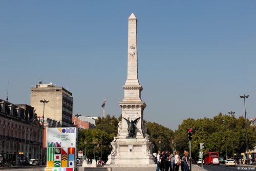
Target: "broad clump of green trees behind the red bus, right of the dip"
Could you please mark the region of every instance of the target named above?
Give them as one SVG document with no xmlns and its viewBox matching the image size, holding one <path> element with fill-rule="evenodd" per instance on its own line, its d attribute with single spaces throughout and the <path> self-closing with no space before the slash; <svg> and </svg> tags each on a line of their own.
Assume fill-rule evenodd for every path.
<svg viewBox="0 0 256 171">
<path fill-rule="evenodd" d="M 248 148 L 253 149 L 256 135 L 253 127 L 250 126 L 249 120 L 247 124 Z M 187 137 L 187 130 L 193 129 L 193 140 L 191 143 L 191 155 L 193 158 L 199 157 L 200 142 L 204 142 L 204 153 L 219 152 L 220 156 L 232 156 L 232 142 L 234 154 L 241 154 L 246 149 L 246 129 L 244 117 L 235 118 L 229 115 L 219 113 L 212 119 L 201 118 L 184 120 L 179 129 L 175 132 L 175 141 L 180 143 L 180 139 Z M 189 141 L 184 139 L 186 146 L 179 144 L 183 149 L 189 147 Z M 178 147 L 180 149 L 180 147 Z M 180 149 L 182 150 L 182 149 Z"/>
</svg>

